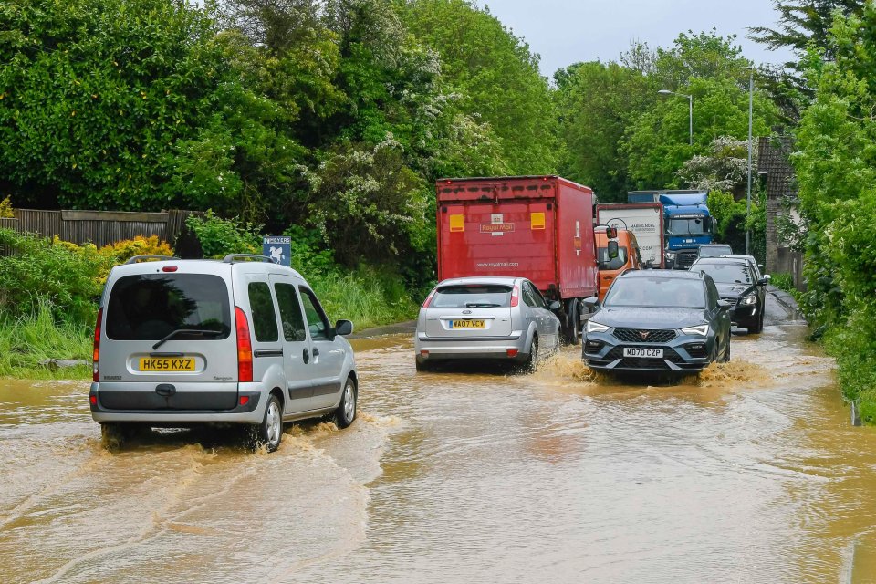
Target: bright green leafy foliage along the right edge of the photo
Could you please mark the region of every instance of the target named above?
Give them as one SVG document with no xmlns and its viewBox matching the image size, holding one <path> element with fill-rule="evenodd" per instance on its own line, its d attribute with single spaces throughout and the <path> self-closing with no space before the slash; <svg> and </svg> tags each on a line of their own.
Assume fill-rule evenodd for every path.
<svg viewBox="0 0 876 584">
<path fill-rule="evenodd" d="M 813 50 L 817 99 L 797 131 L 799 210 L 808 224 L 803 297 L 810 320 L 828 328 L 840 381 L 862 416 L 876 422 L 876 6 L 837 15 L 832 62 Z"/>
</svg>

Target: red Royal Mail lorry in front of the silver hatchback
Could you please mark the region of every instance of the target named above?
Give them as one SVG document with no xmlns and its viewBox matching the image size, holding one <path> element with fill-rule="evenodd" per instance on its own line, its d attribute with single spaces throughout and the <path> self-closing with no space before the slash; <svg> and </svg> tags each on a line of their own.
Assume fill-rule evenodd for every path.
<svg viewBox="0 0 876 584">
<path fill-rule="evenodd" d="M 562 308 L 565 339 L 579 341 L 581 302 L 598 292 L 593 191 L 558 176 L 442 179 L 438 280 L 527 277 Z"/>
</svg>

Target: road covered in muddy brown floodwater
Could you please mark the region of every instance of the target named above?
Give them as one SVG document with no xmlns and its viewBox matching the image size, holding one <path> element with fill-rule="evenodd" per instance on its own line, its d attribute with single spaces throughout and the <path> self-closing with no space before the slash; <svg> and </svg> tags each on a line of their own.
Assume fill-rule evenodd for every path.
<svg viewBox="0 0 876 584">
<path fill-rule="evenodd" d="M 355 341 L 360 419 L 275 454 L 152 433 L 110 453 L 88 384 L 0 381 L 6 582 L 870 582 L 876 433 L 770 310 L 673 386 L 417 374 Z"/>
</svg>

